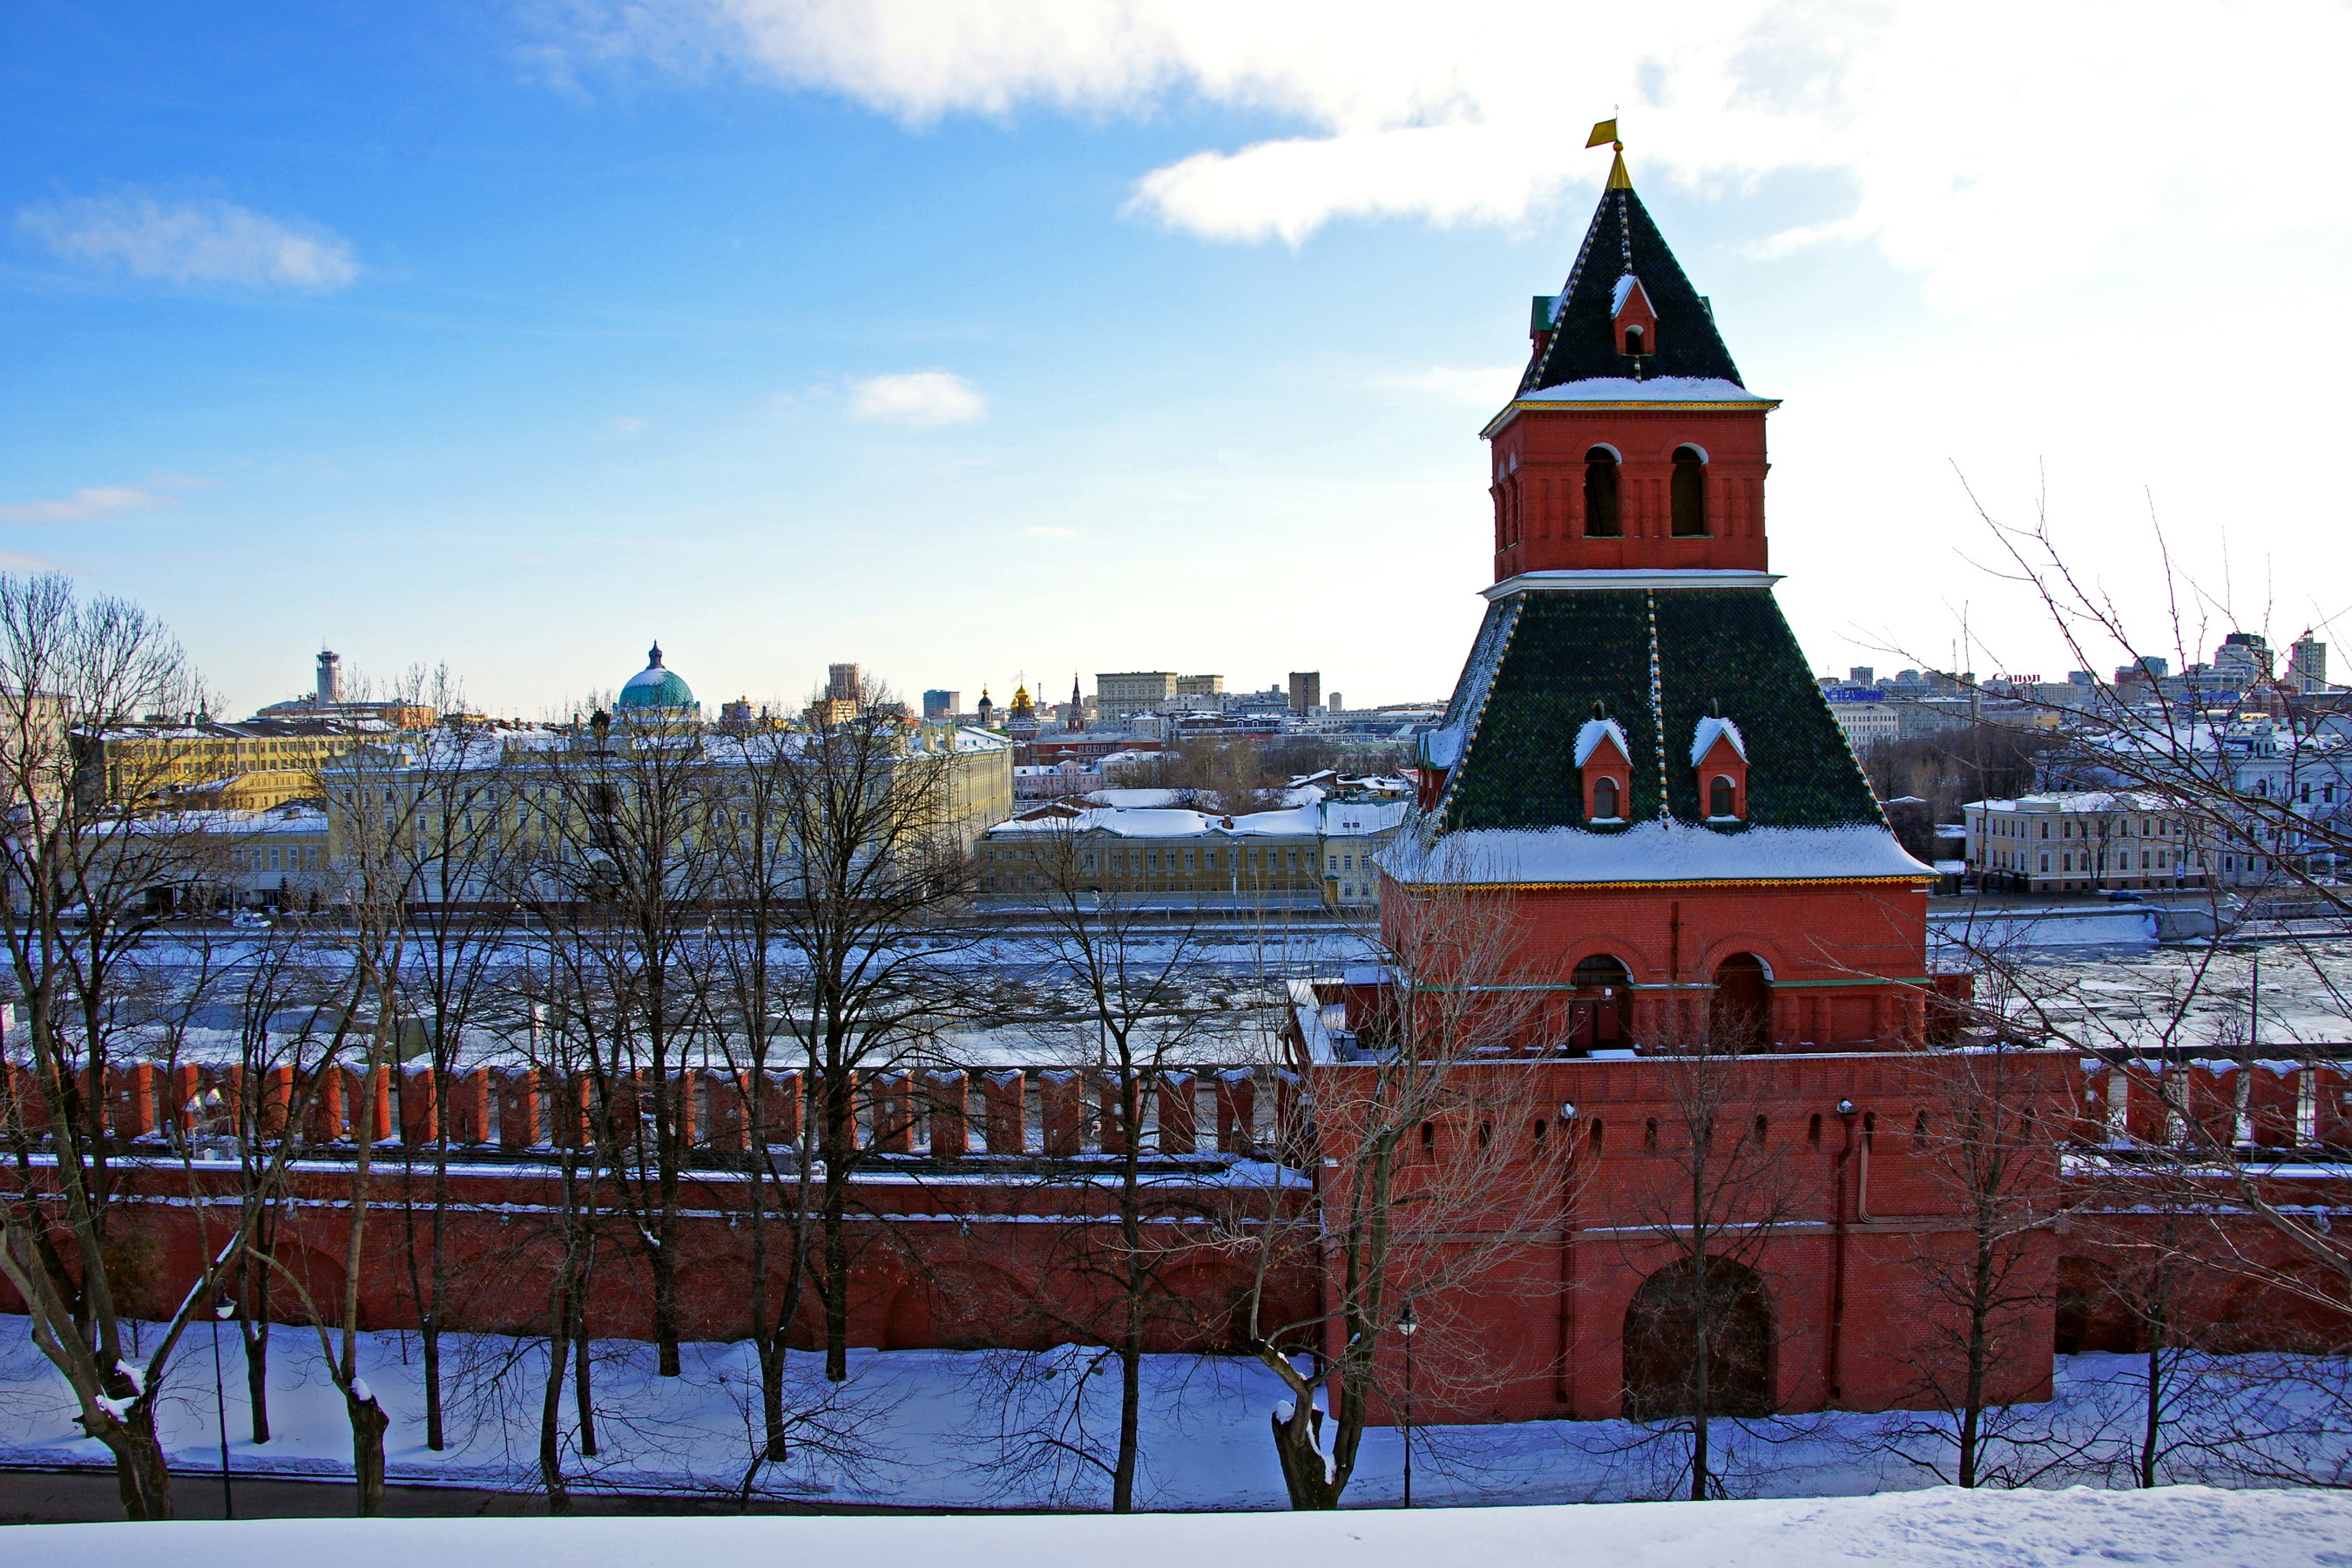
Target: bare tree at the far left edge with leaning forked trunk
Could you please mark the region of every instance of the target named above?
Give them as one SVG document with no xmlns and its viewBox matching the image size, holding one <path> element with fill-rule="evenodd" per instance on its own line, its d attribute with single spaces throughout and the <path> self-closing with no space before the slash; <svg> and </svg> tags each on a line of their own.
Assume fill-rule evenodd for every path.
<svg viewBox="0 0 2352 1568">
<path fill-rule="evenodd" d="M 141 820 L 158 778 L 108 778 L 111 724 L 191 712 L 198 684 L 179 644 L 139 607 L 82 599 L 64 576 L 0 576 L 0 896 L 24 1056 L 9 1067 L 7 1133 L 16 1190 L 0 1208 L 0 1272 L 26 1300 L 33 1342 L 73 1389 L 82 1432 L 115 1455 L 122 1509 L 169 1519 L 155 1399 L 191 1314 L 238 1265 L 242 1232 L 205 1262 L 153 1354 L 132 1361 L 108 1248 L 125 1201 L 106 1121 L 115 1004 L 155 919 L 151 889 L 202 879 L 207 835 Z M 78 766 L 75 748 L 99 764 Z M 136 769 L 139 764 L 129 764 Z M 160 771 L 160 762 L 155 769 Z M 35 1161 L 47 1154 L 47 1164 Z"/>
</svg>

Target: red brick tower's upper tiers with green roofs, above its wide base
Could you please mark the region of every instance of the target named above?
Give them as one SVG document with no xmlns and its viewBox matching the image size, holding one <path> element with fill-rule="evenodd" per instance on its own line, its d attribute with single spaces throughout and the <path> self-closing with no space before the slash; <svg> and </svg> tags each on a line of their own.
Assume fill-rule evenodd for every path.
<svg viewBox="0 0 2352 1568">
<path fill-rule="evenodd" d="M 1395 893 L 1517 907 L 1571 1051 L 1740 1030 L 1917 1044 L 1926 879 L 1771 597 L 1764 418 L 1625 179 L 1534 303 L 1494 451 L 1486 623 L 1423 741 Z"/>
</svg>

